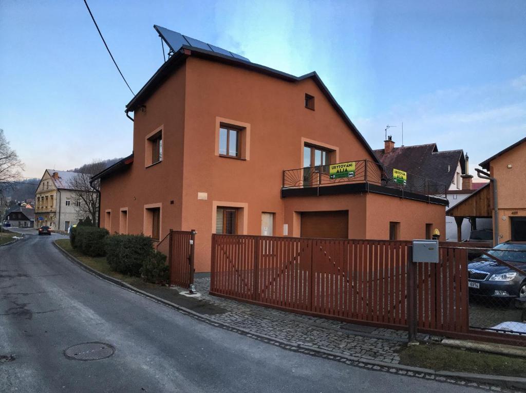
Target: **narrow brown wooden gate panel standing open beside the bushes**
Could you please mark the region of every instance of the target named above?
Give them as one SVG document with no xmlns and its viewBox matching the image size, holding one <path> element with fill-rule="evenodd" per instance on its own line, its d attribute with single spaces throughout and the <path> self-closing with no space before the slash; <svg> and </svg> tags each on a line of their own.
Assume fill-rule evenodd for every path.
<svg viewBox="0 0 526 393">
<path fill-rule="evenodd" d="M 195 230 L 170 230 L 157 244 L 157 251 L 167 256 L 170 285 L 189 288 L 194 284 L 195 235 Z"/>
</svg>

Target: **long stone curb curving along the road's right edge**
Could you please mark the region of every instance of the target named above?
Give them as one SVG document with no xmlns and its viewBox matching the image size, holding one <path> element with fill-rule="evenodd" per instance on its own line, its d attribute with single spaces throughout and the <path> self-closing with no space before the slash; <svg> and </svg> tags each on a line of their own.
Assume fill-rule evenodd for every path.
<svg viewBox="0 0 526 393">
<path fill-rule="evenodd" d="M 100 273 L 100 271 L 95 270 L 92 267 L 84 264 L 74 256 L 70 255 L 66 250 L 60 247 L 58 244 L 53 241 L 53 245 L 62 253 L 67 259 L 77 264 L 80 268 L 86 270 L 88 273 L 98 276 L 106 281 L 109 281 L 112 284 L 123 287 L 133 293 L 147 297 L 151 300 L 156 301 L 157 303 L 163 304 L 170 308 L 177 309 L 181 314 L 189 315 L 195 319 L 203 321 L 209 325 L 220 327 L 225 330 L 236 332 L 238 334 L 244 335 L 246 337 L 256 339 L 258 341 L 266 342 L 267 344 L 272 344 L 279 346 L 283 349 L 300 352 L 302 354 L 322 357 L 330 360 L 340 361 L 351 366 L 357 366 L 361 368 L 367 368 L 375 371 L 386 371 L 390 374 L 405 375 L 417 378 L 433 379 L 439 382 L 449 382 L 462 386 L 470 387 L 480 387 L 483 389 L 491 390 L 501 390 L 501 387 L 507 387 L 513 390 L 510 391 L 526 391 L 526 378 L 520 377 L 504 377 L 499 375 L 482 375 L 482 374 L 472 374 L 469 372 L 454 372 L 454 371 L 435 371 L 427 368 L 406 366 L 400 364 L 391 364 L 383 361 L 358 358 L 356 356 L 348 356 L 343 354 L 338 354 L 336 352 L 331 352 L 321 348 L 312 348 L 310 346 L 297 345 L 292 342 L 287 342 L 281 339 L 274 337 L 266 336 L 261 333 L 254 333 L 250 330 L 245 330 L 239 327 L 235 327 L 224 322 L 218 322 L 214 319 L 210 319 L 205 315 L 196 313 L 193 310 L 190 310 L 186 307 L 179 306 L 171 301 L 165 300 L 163 298 L 157 297 L 155 295 L 149 294 L 146 291 L 135 288 L 132 285 L 125 283 L 122 280 L 117 278 L 105 275 Z M 478 384 L 477 382 L 481 382 Z M 492 389 L 493 388 L 493 389 Z M 520 389 L 520 390 L 517 390 Z"/>
</svg>

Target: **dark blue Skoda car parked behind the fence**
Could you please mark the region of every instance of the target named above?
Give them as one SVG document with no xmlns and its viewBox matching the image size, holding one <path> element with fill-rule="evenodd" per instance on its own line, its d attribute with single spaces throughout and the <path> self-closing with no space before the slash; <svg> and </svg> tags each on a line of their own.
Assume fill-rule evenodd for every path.
<svg viewBox="0 0 526 393">
<path fill-rule="evenodd" d="M 488 251 L 488 254 L 521 270 L 526 270 L 526 242 L 524 241 L 505 241 Z M 471 261 L 468 265 L 468 274 L 470 295 L 508 300 L 517 297 L 526 298 L 526 274 L 510 269 L 487 255 Z"/>
</svg>

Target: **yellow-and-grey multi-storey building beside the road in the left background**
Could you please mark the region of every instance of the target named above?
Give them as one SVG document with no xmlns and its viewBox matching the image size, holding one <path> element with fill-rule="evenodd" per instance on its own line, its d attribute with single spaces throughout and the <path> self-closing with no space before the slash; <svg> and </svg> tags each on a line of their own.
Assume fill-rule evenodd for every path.
<svg viewBox="0 0 526 393">
<path fill-rule="evenodd" d="M 36 227 L 48 226 L 52 230 L 67 231 L 78 223 L 78 209 L 82 200 L 75 196 L 70 185 L 76 172 L 46 169 L 35 195 Z"/>
</svg>

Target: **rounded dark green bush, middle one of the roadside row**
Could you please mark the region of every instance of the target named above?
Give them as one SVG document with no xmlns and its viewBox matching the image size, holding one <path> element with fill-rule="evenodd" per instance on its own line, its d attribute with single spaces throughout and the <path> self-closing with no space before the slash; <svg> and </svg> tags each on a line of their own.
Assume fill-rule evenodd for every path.
<svg viewBox="0 0 526 393">
<path fill-rule="evenodd" d="M 140 268 L 154 252 L 151 237 L 112 235 L 106 239 L 106 259 L 118 273 L 140 277 Z"/>
</svg>

